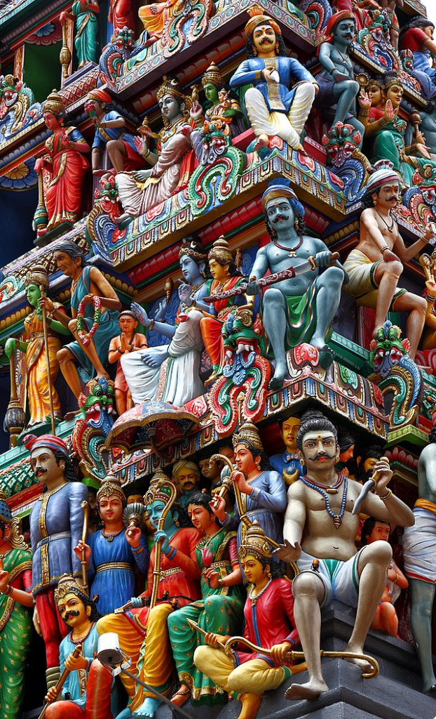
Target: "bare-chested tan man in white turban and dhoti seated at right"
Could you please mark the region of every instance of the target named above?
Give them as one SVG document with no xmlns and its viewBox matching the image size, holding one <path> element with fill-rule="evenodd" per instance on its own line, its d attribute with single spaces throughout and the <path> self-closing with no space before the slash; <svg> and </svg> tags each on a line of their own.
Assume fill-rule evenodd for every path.
<svg viewBox="0 0 436 719">
<path fill-rule="evenodd" d="M 344 262 L 350 278 L 345 292 L 356 297 L 358 304 L 376 309 L 373 337 L 383 326 L 389 310 L 409 312 L 409 356 L 414 359 L 427 303 L 424 298 L 397 285 L 403 271 L 402 262 L 412 260 L 419 249 L 435 237 L 436 231 L 430 224 L 422 239 L 409 247 L 404 245 L 392 214 L 399 201 L 401 180 L 388 160 L 376 163 L 376 167 L 366 185 L 367 208 L 361 214 L 360 241 Z"/>
</svg>

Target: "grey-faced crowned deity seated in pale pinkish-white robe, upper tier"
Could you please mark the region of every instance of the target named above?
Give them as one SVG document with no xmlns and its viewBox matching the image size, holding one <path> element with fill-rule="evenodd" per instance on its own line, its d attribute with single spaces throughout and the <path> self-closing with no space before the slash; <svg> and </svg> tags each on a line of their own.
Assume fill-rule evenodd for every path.
<svg viewBox="0 0 436 719">
<path fill-rule="evenodd" d="M 149 150 L 145 139 L 135 141 L 137 150 L 152 169 L 116 175 L 124 208 L 124 213 L 117 218 L 118 223 L 146 213 L 185 188 L 194 169 L 194 148 L 199 148 L 202 140 L 200 132 L 194 129 L 195 122 L 190 119 L 193 109 L 190 96 L 182 91 L 177 80 L 164 76 L 157 91 L 157 102 L 164 122 L 157 152 Z"/>
</svg>

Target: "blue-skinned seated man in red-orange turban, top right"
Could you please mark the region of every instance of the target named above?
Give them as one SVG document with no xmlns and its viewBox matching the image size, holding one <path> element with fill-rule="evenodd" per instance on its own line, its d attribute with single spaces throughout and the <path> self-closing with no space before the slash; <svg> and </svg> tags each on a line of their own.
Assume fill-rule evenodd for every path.
<svg viewBox="0 0 436 719">
<path fill-rule="evenodd" d="M 324 113 L 326 108 L 335 110 L 332 127 L 337 122 L 346 122 L 361 132 L 363 142 L 364 126 L 356 117 L 356 97 L 360 114 L 367 117 L 371 102 L 368 96 L 360 93 L 359 83 L 354 79 L 353 61 L 348 51 L 356 34 L 356 18 L 353 12 L 343 10 L 328 21 L 327 39 L 318 49 L 318 57 L 323 72 L 316 76 L 320 91 L 315 105 Z"/>
</svg>

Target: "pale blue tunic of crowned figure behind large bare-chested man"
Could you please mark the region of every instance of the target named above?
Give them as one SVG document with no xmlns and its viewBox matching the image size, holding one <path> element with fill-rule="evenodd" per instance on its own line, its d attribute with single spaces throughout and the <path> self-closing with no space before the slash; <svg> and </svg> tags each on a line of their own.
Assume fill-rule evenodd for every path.
<svg viewBox="0 0 436 719">
<path fill-rule="evenodd" d="M 256 479 L 251 480 L 253 491 L 251 495 L 241 493 L 243 503 L 246 503 L 246 513 L 251 522 L 258 521 L 266 536 L 274 539 L 277 544 L 283 544 L 283 522 L 280 514 L 287 506 L 286 487 L 279 472 L 264 471 Z M 237 503 L 235 513 L 229 514 L 223 521 L 223 526 L 229 529 L 238 529 L 238 548 L 241 545 L 242 522 L 240 521 Z M 279 561 L 279 560 L 277 560 Z"/>
</svg>

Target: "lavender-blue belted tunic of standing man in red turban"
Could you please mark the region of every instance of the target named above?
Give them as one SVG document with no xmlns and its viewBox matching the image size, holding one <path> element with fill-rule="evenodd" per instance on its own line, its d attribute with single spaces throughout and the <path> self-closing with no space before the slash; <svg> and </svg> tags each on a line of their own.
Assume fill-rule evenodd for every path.
<svg viewBox="0 0 436 719">
<path fill-rule="evenodd" d="M 83 500 L 88 500 L 85 485 L 67 482 L 53 492 L 45 492 L 34 503 L 30 515 L 34 595 L 57 585 L 65 572 L 80 576 L 74 547 L 82 537 Z"/>
</svg>

